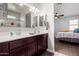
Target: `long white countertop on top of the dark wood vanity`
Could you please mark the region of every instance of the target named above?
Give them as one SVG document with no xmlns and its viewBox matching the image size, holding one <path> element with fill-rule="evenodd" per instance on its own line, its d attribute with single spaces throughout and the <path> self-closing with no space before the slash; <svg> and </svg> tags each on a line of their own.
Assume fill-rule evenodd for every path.
<svg viewBox="0 0 79 59">
<path fill-rule="evenodd" d="M 17 39 L 21 39 L 21 38 L 26 38 L 26 37 L 32 37 L 32 36 L 36 36 L 36 35 L 41 35 L 41 34 L 45 34 L 48 33 L 48 31 L 46 32 L 41 32 L 39 34 L 22 34 L 22 35 L 16 35 L 16 36 L 1 36 L 0 37 L 0 43 L 2 42 L 7 42 L 7 41 L 12 41 L 12 40 L 17 40 Z"/>
</svg>

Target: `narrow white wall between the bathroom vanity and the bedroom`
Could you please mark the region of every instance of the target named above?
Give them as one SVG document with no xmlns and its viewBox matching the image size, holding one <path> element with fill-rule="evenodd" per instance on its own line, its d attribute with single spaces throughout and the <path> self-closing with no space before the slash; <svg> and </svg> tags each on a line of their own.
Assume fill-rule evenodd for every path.
<svg viewBox="0 0 79 59">
<path fill-rule="evenodd" d="M 54 52 L 54 6 L 53 3 L 44 3 L 41 5 L 41 12 L 47 14 L 47 21 L 49 22 L 48 29 L 48 50 Z"/>
</svg>

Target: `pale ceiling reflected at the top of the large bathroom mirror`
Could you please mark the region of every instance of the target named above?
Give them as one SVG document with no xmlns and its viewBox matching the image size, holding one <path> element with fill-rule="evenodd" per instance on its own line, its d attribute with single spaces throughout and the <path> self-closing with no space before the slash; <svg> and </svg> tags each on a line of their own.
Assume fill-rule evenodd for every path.
<svg viewBox="0 0 79 59">
<path fill-rule="evenodd" d="M 15 11 L 15 12 L 19 12 L 19 13 L 24 13 L 24 12 L 28 12 L 29 11 L 29 7 L 28 6 L 20 6 L 19 4 L 15 4 L 15 3 L 9 3 L 8 4 L 8 9 Z"/>
</svg>

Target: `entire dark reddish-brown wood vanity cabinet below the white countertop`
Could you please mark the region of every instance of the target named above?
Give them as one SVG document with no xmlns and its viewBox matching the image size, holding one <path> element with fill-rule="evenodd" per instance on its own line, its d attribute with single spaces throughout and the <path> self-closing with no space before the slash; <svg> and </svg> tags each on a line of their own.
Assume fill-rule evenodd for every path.
<svg viewBox="0 0 79 59">
<path fill-rule="evenodd" d="M 0 56 L 37 56 L 47 49 L 48 34 L 0 43 Z"/>
</svg>

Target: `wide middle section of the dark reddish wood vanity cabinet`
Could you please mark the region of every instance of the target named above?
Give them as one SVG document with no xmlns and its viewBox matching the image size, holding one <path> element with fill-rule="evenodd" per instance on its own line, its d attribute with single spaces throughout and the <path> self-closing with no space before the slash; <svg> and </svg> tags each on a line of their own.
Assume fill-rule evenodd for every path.
<svg viewBox="0 0 79 59">
<path fill-rule="evenodd" d="M 10 56 L 31 56 L 36 53 L 35 37 L 22 38 L 10 42 Z"/>
</svg>

